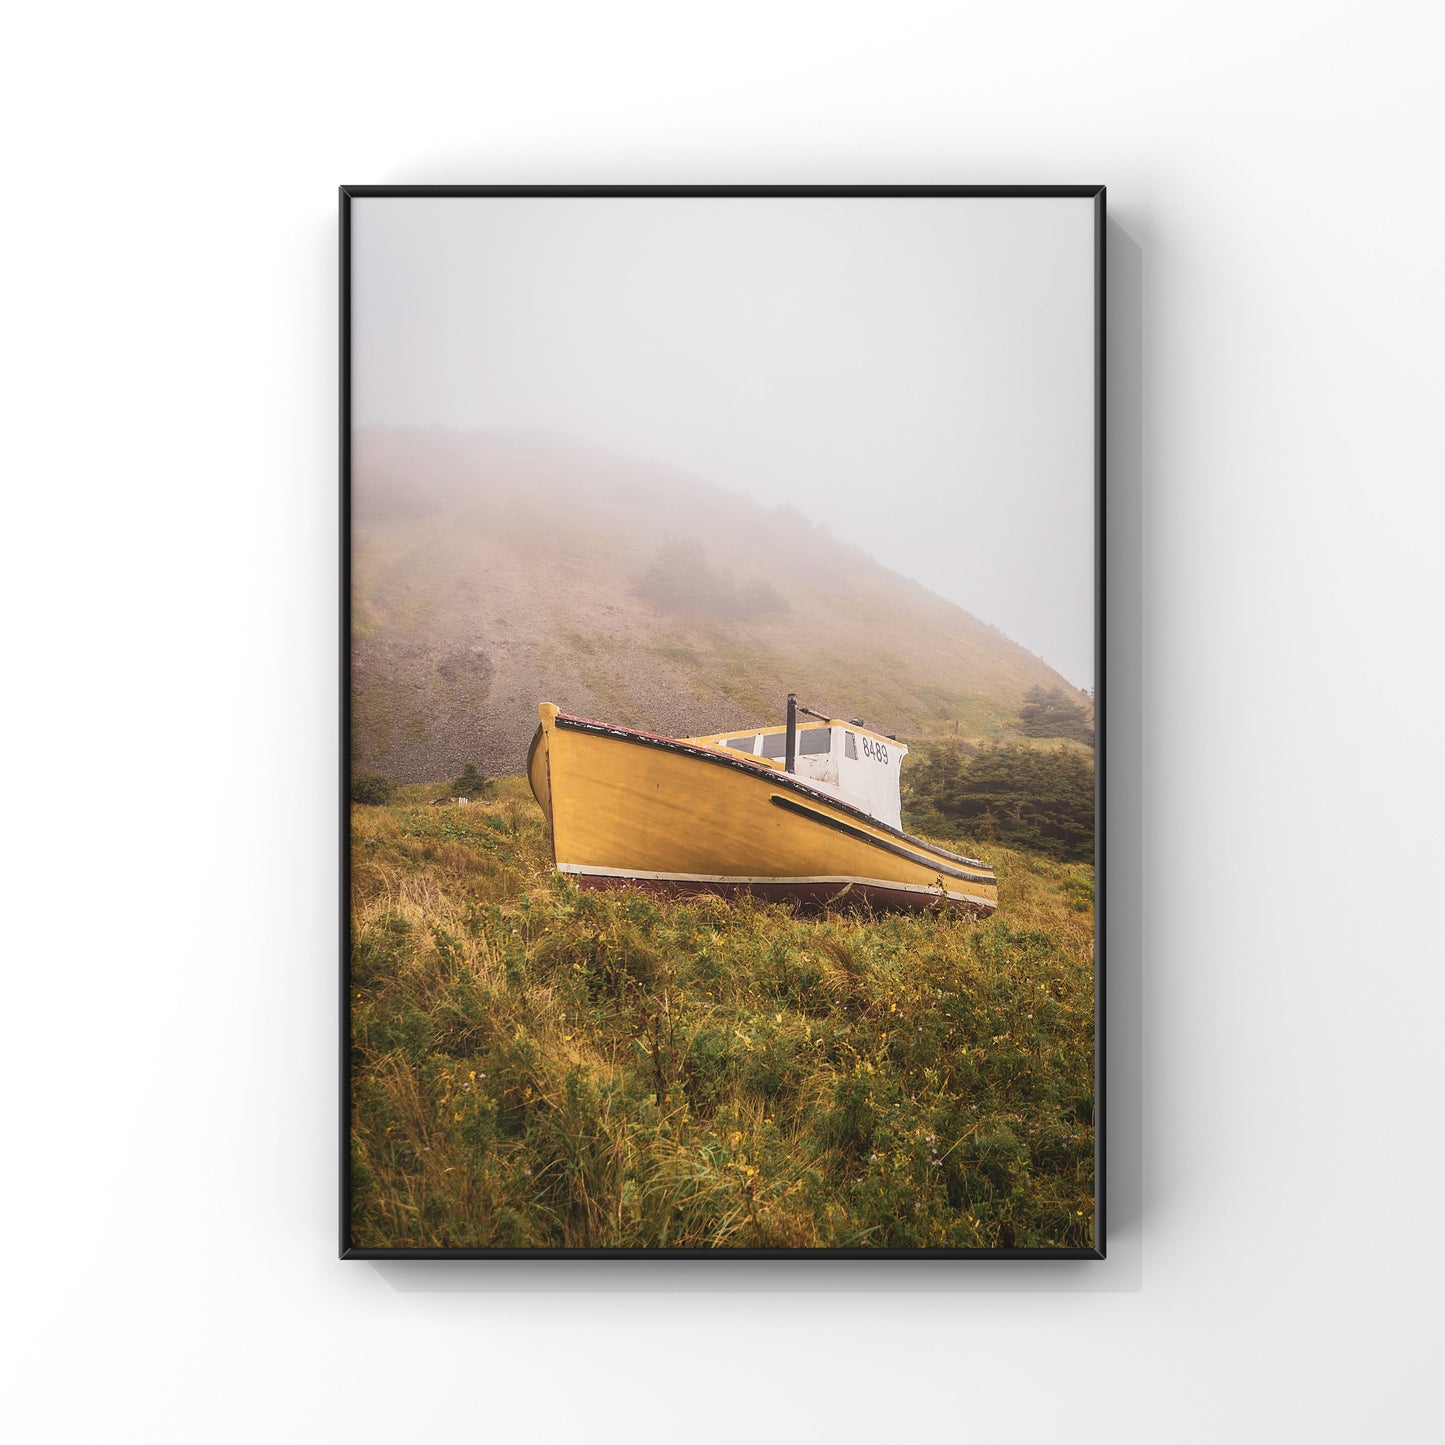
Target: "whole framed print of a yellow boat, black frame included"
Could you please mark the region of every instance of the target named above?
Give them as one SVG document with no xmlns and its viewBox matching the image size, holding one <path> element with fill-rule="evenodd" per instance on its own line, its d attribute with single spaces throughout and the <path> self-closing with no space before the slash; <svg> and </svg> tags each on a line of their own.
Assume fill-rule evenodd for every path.
<svg viewBox="0 0 1445 1445">
<path fill-rule="evenodd" d="M 344 1257 L 1103 1257 L 1103 276 L 342 189 Z"/>
</svg>

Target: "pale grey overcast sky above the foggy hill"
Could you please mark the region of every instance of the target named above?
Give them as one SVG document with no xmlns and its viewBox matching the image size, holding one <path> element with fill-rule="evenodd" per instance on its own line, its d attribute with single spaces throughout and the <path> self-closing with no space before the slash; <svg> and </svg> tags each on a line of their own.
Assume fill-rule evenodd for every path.
<svg viewBox="0 0 1445 1445">
<path fill-rule="evenodd" d="M 788 503 L 1094 685 L 1092 201 L 353 202 L 353 420 Z"/>
</svg>

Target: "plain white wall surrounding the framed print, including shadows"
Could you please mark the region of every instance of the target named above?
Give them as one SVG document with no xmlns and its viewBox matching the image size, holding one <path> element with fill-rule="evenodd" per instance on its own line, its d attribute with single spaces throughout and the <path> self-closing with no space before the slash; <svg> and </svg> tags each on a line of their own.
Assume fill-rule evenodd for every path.
<svg viewBox="0 0 1445 1445">
<path fill-rule="evenodd" d="M 23 1439 L 1413 1439 L 1435 1416 L 1438 10 L 7 20 Z M 338 182 L 1107 182 L 1113 1254 L 334 1259 Z"/>
</svg>

